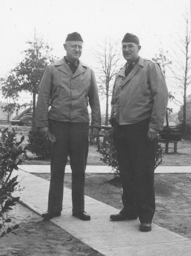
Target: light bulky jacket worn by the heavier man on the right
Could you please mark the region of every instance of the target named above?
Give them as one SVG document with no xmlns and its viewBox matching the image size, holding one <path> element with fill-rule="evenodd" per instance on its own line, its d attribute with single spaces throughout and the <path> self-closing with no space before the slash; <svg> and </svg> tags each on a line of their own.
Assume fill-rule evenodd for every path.
<svg viewBox="0 0 191 256">
<path fill-rule="evenodd" d="M 162 130 L 168 103 L 168 89 L 159 65 L 139 58 L 130 74 L 126 65 L 116 74 L 111 100 L 111 118 L 119 124 L 150 118 L 151 128 Z"/>
</svg>

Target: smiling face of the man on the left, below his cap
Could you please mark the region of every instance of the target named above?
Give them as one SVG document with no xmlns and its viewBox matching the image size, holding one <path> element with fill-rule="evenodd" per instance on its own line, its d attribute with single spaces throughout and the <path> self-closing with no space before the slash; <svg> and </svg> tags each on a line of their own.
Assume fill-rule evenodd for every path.
<svg viewBox="0 0 191 256">
<path fill-rule="evenodd" d="M 70 61 L 76 61 L 82 54 L 82 41 L 67 41 L 64 43 L 64 49 L 66 50 L 66 57 Z"/>
</svg>

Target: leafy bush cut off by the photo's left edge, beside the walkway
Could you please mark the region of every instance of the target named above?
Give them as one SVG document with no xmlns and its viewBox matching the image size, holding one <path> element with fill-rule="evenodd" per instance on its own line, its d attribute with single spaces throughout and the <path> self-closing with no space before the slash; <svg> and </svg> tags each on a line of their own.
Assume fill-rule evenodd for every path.
<svg viewBox="0 0 191 256">
<path fill-rule="evenodd" d="M 14 233 L 14 229 L 18 228 L 18 224 L 9 226 L 11 218 L 8 218 L 7 212 L 11 210 L 11 206 L 15 205 L 19 200 L 19 197 L 12 197 L 11 194 L 14 191 L 21 191 L 20 185 L 18 185 L 17 175 L 10 178 L 13 169 L 18 170 L 18 164 L 20 164 L 25 158 L 25 148 L 20 145 L 24 140 L 24 136 L 20 138 L 20 141 L 16 141 L 16 132 L 12 128 L 9 131 L 8 128 L 0 129 L 0 238 L 7 235 L 9 232 Z M 18 185 L 18 187 L 16 187 Z M 6 228 L 6 224 L 8 227 Z M 14 233 L 15 234 L 15 233 Z"/>
</svg>

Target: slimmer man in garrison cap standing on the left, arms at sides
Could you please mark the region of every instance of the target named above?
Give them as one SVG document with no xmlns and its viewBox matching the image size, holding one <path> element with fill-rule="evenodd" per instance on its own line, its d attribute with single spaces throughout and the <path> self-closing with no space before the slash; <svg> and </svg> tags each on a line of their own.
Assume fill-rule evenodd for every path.
<svg viewBox="0 0 191 256">
<path fill-rule="evenodd" d="M 50 140 L 51 147 L 48 209 L 41 215 L 44 219 L 61 214 L 64 171 L 69 154 L 72 215 L 90 220 L 90 215 L 84 210 L 89 143 L 88 104 L 91 107 L 91 138 L 99 136 L 101 113 L 94 72 L 79 60 L 82 46 L 79 33 L 68 34 L 64 43 L 66 56 L 46 68 L 39 86 L 36 127 Z"/>
</svg>

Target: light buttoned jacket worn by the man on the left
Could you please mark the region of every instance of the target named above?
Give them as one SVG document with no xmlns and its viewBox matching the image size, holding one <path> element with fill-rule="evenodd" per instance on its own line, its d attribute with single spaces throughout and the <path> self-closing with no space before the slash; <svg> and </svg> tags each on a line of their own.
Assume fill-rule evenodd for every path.
<svg viewBox="0 0 191 256">
<path fill-rule="evenodd" d="M 41 79 L 36 104 L 36 127 L 48 126 L 48 118 L 89 123 L 88 103 L 91 107 L 91 125 L 100 128 L 100 103 L 93 70 L 79 61 L 73 74 L 65 59 L 60 59 L 46 68 Z"/>
</svg>

